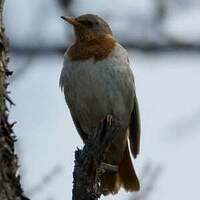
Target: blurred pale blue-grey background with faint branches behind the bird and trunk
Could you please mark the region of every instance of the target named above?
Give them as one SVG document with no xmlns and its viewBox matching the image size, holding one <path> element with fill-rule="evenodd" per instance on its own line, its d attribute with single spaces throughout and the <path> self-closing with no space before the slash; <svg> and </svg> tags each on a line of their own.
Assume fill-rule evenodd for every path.
<svg viewBox="0 0 200 200">
<path fill-rule="evenodd" d="M 141 110 L 142 189 L 101 199 L 198 199 L 200 161 L 199 0 L 6 1 L 17 152 L 32 200 L 71 199 L 82 142 L 58 86 L 72 28 L 61 15 L 95 13 L 129 52 Z"/>
</svg>

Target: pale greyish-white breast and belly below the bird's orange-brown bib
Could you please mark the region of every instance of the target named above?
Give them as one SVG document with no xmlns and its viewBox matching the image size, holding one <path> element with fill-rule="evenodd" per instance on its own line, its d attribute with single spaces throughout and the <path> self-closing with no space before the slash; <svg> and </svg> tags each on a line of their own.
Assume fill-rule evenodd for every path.
<svg viewBox="0 0 200 200">
<path fill-rule="evenodd" d="M 119 44 L 107 59 L 70 61 L 65 55 L 60 77 L 66 102 L 85 132 L 107 114 L 129 123 L 133 108 L 134 79 L 126 50 Z"/>
</svg>

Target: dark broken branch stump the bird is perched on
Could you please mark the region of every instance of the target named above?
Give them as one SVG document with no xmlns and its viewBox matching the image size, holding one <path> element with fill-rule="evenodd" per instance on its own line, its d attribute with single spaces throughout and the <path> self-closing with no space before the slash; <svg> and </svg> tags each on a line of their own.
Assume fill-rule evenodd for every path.
<svg viewBox="0 0 200 200">
<path fill-rule="evenodd" d="M 106 172 L 117 172 L 117 166 L 104 163 L 104 159 L 113 139 L 121 132 L 122 127 L 116 121 L 112 124 L 105 119 L 95 135 L 91 136 L 83 150 L 75 152 L 73 200 L 97 200 L 102 191 L 100 180 Z"/>
</svg>

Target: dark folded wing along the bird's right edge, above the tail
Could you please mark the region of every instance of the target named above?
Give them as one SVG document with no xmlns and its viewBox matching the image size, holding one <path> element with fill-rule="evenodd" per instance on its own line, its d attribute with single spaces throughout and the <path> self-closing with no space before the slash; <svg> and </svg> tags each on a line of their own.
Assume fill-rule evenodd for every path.
<svg viewBox="0 0 200 200">
<path fill-rule="evenodd" d="M 140 113 L 136 96 L 134 97 L 134 107 L 131 114 L 131 121 L 129 128 L 130 128 L 130 134 L 129 134 L 130 148 L 133 157 L 136 158 L 140 151 L 140 132 L 141 132 Z"/>
</svg>

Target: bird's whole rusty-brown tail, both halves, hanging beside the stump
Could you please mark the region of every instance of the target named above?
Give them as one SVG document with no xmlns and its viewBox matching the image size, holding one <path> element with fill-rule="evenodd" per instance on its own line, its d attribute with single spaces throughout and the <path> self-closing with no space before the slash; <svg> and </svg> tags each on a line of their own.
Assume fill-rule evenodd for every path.
<svg viewBox="0 0 200 200">
<path fill-rule="evenodd" d="M 101 180 L 102 192 L 104 195 L 116 194 L 123 186 L 126 191 L 138 191 L 140 189 L 139 180 L 135 173 L 130 158 L 128 145 L 124 151 L 123 158 L 119 164 L 117 174 L 104 174 Z"/>
</svg>

